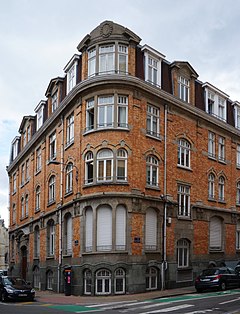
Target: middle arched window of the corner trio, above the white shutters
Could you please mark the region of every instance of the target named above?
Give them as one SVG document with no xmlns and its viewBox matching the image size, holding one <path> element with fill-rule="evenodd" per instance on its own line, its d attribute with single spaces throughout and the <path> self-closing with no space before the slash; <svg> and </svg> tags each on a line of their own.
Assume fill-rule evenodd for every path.
<svg viewBox="0 0 240 314">
<path fill-rule="evenodd" d="M 113 153 L 110 149 L 102 149 L 97 154 L 97 180 L 111 181 L 113 179 Z"/>
</svg>

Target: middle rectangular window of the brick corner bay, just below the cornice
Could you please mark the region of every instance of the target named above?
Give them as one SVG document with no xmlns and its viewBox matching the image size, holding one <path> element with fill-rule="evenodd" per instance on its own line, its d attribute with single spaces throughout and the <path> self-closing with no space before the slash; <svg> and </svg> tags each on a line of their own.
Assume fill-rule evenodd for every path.
<svg viewBox="0 0 240 314">
<path fill-rule="evenodd" d="M 98 97 L 98 127 L 113 127 L 113 96 Z"/>
</svg>

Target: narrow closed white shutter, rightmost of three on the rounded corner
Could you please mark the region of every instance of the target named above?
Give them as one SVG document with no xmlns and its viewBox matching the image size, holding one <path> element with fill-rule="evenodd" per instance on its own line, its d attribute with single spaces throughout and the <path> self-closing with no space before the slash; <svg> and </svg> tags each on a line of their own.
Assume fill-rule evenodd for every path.
<svg viewBox="0 0 240 314">
<path fill-rule="evenodd" d="M 116 250 L 126 249 L 126 208 L 122 205 L 116 210 Z"/>
</svg>

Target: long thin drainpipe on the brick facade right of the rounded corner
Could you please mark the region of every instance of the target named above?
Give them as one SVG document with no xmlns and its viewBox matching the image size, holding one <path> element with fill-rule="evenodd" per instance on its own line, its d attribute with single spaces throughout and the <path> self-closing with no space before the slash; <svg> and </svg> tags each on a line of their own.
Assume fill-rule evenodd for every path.
<svg viewBox="0 0 240 314">
<path fill-rule="evenodd" d="M 167 104 L 164 105 L 164 183 L 163 183 L 163 201 L 164 201 L 164 215 L 163 215 L 163 260 L 162 260 L 162 290 L 166 286 L 167 269 Z"/>
</svg>

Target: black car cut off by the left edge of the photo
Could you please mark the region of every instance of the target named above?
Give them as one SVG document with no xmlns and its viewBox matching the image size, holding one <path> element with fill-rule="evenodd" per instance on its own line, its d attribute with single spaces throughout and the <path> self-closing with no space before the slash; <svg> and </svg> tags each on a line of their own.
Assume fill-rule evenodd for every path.
<svg viewBox="0 0 240 314">
<path fill-rule="evenodd" d="M 35 298 L 35 290 L 25 280 L 16 277 L 0 277 L 0 300 L 31 300 Z"/>
</svg>

